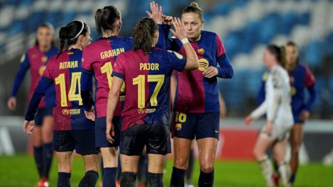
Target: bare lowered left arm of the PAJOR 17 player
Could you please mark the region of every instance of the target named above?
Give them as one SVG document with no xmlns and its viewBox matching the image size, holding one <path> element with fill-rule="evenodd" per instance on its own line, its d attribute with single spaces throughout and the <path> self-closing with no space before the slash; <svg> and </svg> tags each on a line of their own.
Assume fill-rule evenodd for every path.
<svg viewBox="0 0 333 187">
<path fill-rule="evenodd" d="M 110 143 L 113 143 L 115 140 L 112 136 L 115 136 L 115 127 L 112 123 L 112 119 L 114 117 L 114 113 L 118 104 L 120 89 L 124 80 L 122 78 L 114 75 L 112 86 L 107 96 L 107 107 L 106 107 L 106 138 Z M 111 136 L 112 135 L 112 136 Z"/>
</svg>

